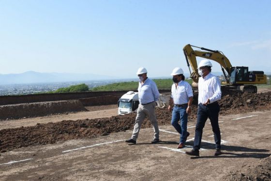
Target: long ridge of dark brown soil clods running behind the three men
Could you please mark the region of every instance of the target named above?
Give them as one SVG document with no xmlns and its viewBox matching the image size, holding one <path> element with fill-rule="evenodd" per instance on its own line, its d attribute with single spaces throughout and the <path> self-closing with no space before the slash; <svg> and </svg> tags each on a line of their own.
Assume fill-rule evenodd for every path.
<svg viewBox="0 0 271 181">
<path fill-rule="evenodd" d="M 271 109 L 271 92 L 262 94 L 234 93 L 223 95 L 219 101 L 220 115 L 246 113 Z M 189 121 L 196 121 L 197 103 L 192 106 Z M 156 109 L 159 125 L 168 125 L 171 112 L 166 108 Z M 113 132 L 123 132 L 133 129 L 135 113 L 85 120 L 64 120 L 58 123 L 37 124 L 32 127 L 5 129 L 0 131 L 0 152 L 28 147 L 31 145 L 53 144 L 80 138 L 93 138 Z M 146 118 L 148 120 L 148 118 Z M 150 121 L 145 120 L 142 128 L 150 128 Z"/>
</svg>

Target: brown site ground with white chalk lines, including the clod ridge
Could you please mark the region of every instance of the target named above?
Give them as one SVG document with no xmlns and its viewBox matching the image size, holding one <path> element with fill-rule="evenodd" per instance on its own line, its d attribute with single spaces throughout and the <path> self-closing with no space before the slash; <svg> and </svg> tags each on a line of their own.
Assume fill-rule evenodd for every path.
<svg viewBox="0 0 271 181">
<path fill-rule="evenodd" d="M 238 95 L 235 97 L 237 99 Z M 249 95 L 245 95 L 230 106 L 234 97 L 225 95 L 221 101 L 219 124 L 223 154 L 220 156 L 213 156 L 214 138 L 209 120 L 203 132 L 200 157 L 184 154 L 184 151 L 193 146 L 196 113 L 189 116 L 190 136 L 186 147 L 182 149 L 176 149 L 180 136 L 170 125 L 170 113 L 166 112 L 166 109 L 157 110 L 161 123 L 161 142 L 158 144 L 151 144 L 153 130 L 147 119 L 136 144 L 125 143 L 124 140 L 131 137 L 135 114 L 124 115 L 122 118 L 112 116 L 117 115 L 116 105 L 89 107 L 88 112 L 68 115 L 1 121 L 0 180 L 216 181 L 256 180 L 258 177 L 268 181 L 271 180 L 270 92 L 263 92 L 256 99 L 248 98 Z M 231 109 L 226 109 L 227 107 Z M 193 110 L 195 109 L 194 106 Z M 91 120 L 96 121 L 95 129 L 102 127 L 103 131 L 97 130 L 95 134 L 90 134 L 87 131 L 90 127 L 87 122 Z M 103 121 L 119 121 L 120 128 L 125 129 L 121 131 L 117 128 L 118 124 L 111 124 L 112 126 L 107 128 L 108 125 L 104 125 Z M 125 121 L 129 126 L 125 125 Z M 77 122 L 78 132 L 75 127 Z M 55 139 L 50 137 L 49 141 L 47 140 L 48 135 L 45 132 L 50 134 L 53 128 L 62 128 L 68 124 L 74 125 L 74 137 L 72 133 L 58 137 L 58 134 L 53 132 Z M 109 132 L 111 129 L 116 131 Z M 43 138 L 38 135 L 41 130 L 45 131 Z M 27 143 L 29 145 L 23 145 L 22 141 L 16 142 L 21 140 L 22 132 L 28 133 L 29 137 L 37 137 L 38 140 L 33 138 L 30 144 Z M 256 168 L 259 169 L 259 174 L 256 173 Z M 249 172 L 250 169 L 252 171 Z"/>
</svg>

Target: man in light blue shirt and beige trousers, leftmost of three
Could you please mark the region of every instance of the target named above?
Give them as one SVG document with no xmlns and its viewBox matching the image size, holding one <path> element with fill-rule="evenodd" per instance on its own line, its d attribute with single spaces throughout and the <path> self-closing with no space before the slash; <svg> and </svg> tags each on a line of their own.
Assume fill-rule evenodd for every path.
<svg viewBox="0 0 271 181">
<path fill-rule="evenodd" d="M 132 137 L 131 139 L 125 140 L 125 142 L 133 144 L 136 143 L 141 125 L 145 117 L 148 116 L 154 130 L 154 138 L 151 143 L 158 143 L 160 140 L 158 122 L 155 115 L 155 107 L 156 101 L 159 99 L 160 94 L 155 82 L 147 77 L 146 68 L 140 67 L 136 74 L 140 80 L 138 84 L 138 99 L 140 104 L 137 108 L 137 115 L 135 118 L 135 126 Z"/>
</svg>

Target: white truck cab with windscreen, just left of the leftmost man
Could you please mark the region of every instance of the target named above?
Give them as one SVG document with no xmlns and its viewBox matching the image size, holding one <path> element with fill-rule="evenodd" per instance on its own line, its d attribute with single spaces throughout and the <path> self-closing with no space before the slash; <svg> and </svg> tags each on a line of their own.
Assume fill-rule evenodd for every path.
<svg viewBox="0 0 271 181">
<path fill-rule="evenodd" d="M 118 101 L 119 115 L 125 115 L 136 111 L 138 105 L 138 92 L 127 92 L 126 94 L 122 95 Z"/>
</svg>

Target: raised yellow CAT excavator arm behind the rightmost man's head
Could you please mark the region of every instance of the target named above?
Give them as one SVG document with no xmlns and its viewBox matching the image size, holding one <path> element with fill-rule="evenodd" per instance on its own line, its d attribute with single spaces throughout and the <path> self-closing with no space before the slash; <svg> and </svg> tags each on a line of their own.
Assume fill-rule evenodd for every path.
<svg viewBox="0 0 271 181">
<path fill-rule="evenodd" d="M 184 46 L 183 53 L 184 53 L 184 56 L 185 56 L 185 59 L 187 62 L 187 66 L 188 66 L 190 74 L 191 74 L 190 77 L 193 80 L 192 85 L 194 87 L 197 87 L 197 82 L 200 77 L 197 72 L 196 57 L 210 59 L 210 60 L 213 60 L 213 61 L 219 63 L 222 68 L 223 74 L 225 76 L 226 82 L 229 83 L 229 75 L 231 73 L 232 66 L 231 66 L 231 63 L 229 62 L 229 60 L 227 59 L 227 57 L 221 51 L 196 47 L 198 49 L 205 50 L 205 51 L 200 51 L 200 50 L 194 50 L 194 49 L 192 49 L 192 47 L 196 47 L 196 46 L 193 46 L 190 44 Z M 189 66 L 192 67 L 193 72 L 191 72 Z M 225 70 L 226 70 L 226 72 L 225 72 Z"/>
</svg>

